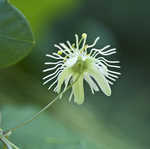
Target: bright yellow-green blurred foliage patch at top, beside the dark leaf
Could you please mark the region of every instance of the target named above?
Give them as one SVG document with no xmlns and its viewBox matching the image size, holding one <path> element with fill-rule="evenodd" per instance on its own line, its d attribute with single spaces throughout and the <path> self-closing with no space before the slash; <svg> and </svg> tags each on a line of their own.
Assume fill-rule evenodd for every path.
<svg viewBox="0 0 150 149">
<path fill-rule="evenodd" d="M 11 2 L 24 13 L 34 33 L 39 36 L 39 31 L 47 20 L 53 23 L 58 16 L 69 13 L 79 0 L 11 0 Z"/>
</svg>

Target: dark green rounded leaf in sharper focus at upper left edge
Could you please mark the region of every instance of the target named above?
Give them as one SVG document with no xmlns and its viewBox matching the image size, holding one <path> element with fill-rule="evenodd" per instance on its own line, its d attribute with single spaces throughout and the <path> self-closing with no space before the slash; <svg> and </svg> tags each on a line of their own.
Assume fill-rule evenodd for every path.
<svg viewBox="0 0 150 149">
<path fill-rule="evenodd" d="M 0 0 L 0 68 L 23 59 L 34 43 L 24 15 L 8 1 Z"/>
</svg>

